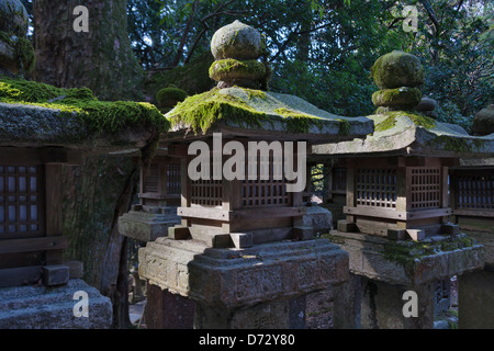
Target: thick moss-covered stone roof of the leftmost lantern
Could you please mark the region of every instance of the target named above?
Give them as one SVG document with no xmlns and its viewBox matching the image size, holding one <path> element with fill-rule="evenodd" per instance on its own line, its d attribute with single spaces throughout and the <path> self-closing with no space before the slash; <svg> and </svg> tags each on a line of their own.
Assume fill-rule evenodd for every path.
<svg viewBox="0 0 494 351">
<path fill-rule="evenodd" d="M 148 103 L 99 101 L 87 88 L 0 76 L 0 146 L 110 152 L 143 148 L 169 126 Z"/>
</svg>

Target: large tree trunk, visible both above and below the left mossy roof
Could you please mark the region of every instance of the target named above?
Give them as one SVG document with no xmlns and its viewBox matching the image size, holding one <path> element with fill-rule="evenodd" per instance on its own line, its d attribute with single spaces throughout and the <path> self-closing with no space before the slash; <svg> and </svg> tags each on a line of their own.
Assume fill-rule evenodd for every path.
<svg viewBox="0 0 494 351">
<path fill-rule="evenodd" d="M 88 9 L 89 32 L 76 32 L 77 5 Z M 125 0 L 34 0 L 35 80 L 87 87 L 100 100 L 141 100 L 144 71 L 131 47 Z M 114 327 L 127 327 L 126 239 L 117 231 L 138 180 L 128 158 L 83 157 L 65 171 L 67 260 L 85 263 L 85 280 L 113 302 Z"/>
</svg>

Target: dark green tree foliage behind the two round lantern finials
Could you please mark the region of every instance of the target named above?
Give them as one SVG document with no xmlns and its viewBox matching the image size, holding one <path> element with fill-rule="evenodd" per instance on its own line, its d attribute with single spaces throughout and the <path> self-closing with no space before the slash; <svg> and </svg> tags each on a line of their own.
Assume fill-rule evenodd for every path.
<svg viewBox="0 0 494 351">
<path fill-rule="evenodd" d="M 402 10 L 408 4 L 417 5 L 418 32 L 403 30 Z M 438 121 L 469 129 L 472 116 L 494 100 L 493 3 L 472 0 L 451 5 L 449 0 L 437 0 L 430 4 L 379 0 L 128 1 L 131 38 L 145 67 L 175 66 L 177 57 L 181 67 L 210 50 L 217 29 L 240 20 L 266 37 L 262 59 L 272 67 L 271 90 L 295 94 L 332 113 L 359 116 L 374 111 L 371 95 L 377 87 L 370 72 L 375 60 L 402 50 L 420 59 L 425 70 L 420 89 L 438 101 Z"/>
</svg>

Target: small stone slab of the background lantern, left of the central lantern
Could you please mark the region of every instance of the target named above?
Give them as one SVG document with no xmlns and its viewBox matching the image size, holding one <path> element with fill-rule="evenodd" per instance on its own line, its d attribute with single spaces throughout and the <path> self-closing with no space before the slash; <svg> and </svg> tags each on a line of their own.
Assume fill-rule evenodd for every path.
<svg viewBox="0 0 494 351">
<path fill-rule="evenodd" d="M 168 229 L 180 223 L 177 211 L 150 213 L 130 211 L 119 218 L 119 233 L 139 241 L 153 241 L 168 235 Z"/>
</svg>

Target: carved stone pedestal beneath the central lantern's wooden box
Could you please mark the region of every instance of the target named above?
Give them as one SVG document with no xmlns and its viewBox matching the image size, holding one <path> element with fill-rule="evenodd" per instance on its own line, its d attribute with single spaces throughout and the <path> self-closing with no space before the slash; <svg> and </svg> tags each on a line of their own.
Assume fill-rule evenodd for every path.
<svg viewBox="0 0 494 351">
<path fill-rule="evenodd" d="M 194 328 L 206 329 L 303 328 L 304 296 L 348 279 L 348 254 L 326 239 L 217 249 L 162 237 L 139 250 L 139 263 L 149 284 L 180 295 L 180 305 L 193 301 Z"/>
</svg>

